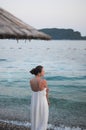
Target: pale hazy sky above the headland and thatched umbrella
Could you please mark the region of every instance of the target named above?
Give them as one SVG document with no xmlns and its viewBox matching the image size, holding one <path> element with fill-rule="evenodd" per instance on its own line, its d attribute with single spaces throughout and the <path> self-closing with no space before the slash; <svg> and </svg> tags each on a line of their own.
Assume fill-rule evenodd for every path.
<svg viewBox="0 0 86 130">
<path fill-rule="evenodd" d="M 86 36 L 86 0 L 0 0 L 0 7 L 37 29 L 72 28 Z"/>
</svg>

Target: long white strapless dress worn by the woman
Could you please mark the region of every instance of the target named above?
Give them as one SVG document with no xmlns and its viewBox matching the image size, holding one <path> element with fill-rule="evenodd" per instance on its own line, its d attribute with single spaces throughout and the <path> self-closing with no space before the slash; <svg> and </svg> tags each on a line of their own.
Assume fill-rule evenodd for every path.
<svg viewBox="0 0 86 130">
<path fill-rule="evenodd" d="M 49 107 L 46 98 L 46 88 L 32 91 L 31 97 L 31 130 L 47 130 Z"/>
</svg>

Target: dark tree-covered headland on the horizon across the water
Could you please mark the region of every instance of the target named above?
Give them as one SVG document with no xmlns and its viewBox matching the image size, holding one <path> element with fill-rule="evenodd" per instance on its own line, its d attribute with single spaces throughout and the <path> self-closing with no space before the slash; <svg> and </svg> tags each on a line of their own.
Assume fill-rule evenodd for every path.
<svg viewBox="0 0 86 130">
<path fill-rule="evenodd" d="M 52 37 L 52 40 L 86 40 L 86 36 L 81 36 L 79 31 L 73 29 L 44 28 L 39 29 Z"/>
</svg>

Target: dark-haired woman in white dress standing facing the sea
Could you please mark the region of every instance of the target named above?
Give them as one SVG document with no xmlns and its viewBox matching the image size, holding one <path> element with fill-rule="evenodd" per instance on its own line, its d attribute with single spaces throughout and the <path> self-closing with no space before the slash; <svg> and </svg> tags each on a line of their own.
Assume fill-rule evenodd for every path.
<svg viewBox="0 0 86 130">
<path fill-rule="evenodd" d="M 35 75 L 30 80 L 31 97 L 31 130 L 46 130 L 49 115 L 48 86 L 44 76 L 44 68 L 39 65 L 30 71 Z"/>
</svg>

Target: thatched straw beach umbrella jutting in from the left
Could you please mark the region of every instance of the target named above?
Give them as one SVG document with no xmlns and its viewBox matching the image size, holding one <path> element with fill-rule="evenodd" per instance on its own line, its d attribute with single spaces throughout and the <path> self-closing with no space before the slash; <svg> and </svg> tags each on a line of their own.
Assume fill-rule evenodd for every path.
<svg viewBox="0 0 86 130">
<path fill-rule="evenodd" d="M 37 31 L 32 26 L 24 23 L 8 11 L 0 8 L 0 39 L 43 39 L 51 37 Z"/>
</svg>

